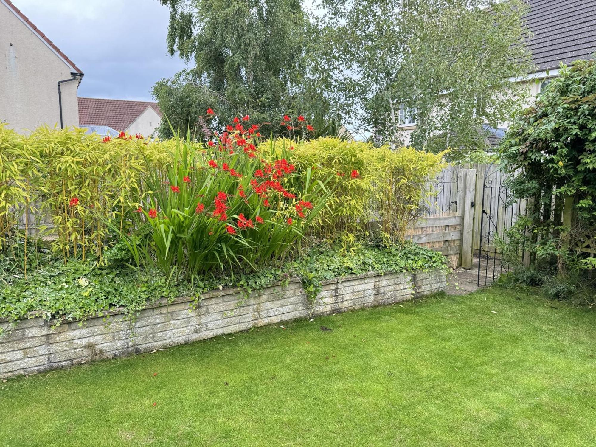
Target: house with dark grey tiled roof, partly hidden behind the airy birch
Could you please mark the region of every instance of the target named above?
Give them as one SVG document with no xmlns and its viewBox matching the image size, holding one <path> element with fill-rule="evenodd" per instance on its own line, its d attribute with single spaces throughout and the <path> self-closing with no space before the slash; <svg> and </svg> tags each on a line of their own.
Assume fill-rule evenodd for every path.
<svg viewBox="0 0 596 447">
<path fill-rule="evenodd" d="M 596 0 L 527 0 L 527 3 L 530 12 L 526 15 L 526 26 L 532 33 L 527 46 L 536 71 L 511 80 L 527 83 L 532 98 L 527 105 L 531 105 L 558 76 L 561 63 L 596 58 Z M 416 128 L 412 115 L 401 107 L 399 119 L 406 143 Z M 508 123 L 502 123 L 496 129 L 485 127 L 489 132 L 489 147 L 499 144 L 507 126 Z"/>
</svg>

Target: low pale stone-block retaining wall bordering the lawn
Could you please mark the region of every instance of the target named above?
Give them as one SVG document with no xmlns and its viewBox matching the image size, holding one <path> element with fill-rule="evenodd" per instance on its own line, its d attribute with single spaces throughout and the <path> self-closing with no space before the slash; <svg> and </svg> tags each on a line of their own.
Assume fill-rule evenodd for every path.
<svg viewBox="0 0 596 447">
<path fill-rule="evenodd" d="M 0 321 L 0 327 L 8 329 L 0 336 L 0 378 L 163 349 L 295 318 L 401 302 L 445 286 L 440 271 L 364 274 L 325 281 L 313 303 L 300 282 L 291 280 L 286 287 L 256 291 L 244 302 L 232 288 L 203 294 L 195 309 L 191 297 L 157 302 L 134 319 L 116 311 L 107 319 L 64 322 L 53 329 L 53 322 L 39 317 L 14 328 Z"/>
</svg>

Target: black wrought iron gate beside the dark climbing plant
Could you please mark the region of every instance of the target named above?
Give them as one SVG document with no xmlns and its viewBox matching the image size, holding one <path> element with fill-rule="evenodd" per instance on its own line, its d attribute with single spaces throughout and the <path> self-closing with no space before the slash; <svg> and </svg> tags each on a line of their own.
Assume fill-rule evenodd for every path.
<svg viewBox="0 0 596 447">
<path fill-rule="evenodd" d="M 510 263 L 502 256 L 499 247 L 502 246 L 501 242 L 507 242 L 507 229 L 525 212 L 523 206 L 513 200 L 506 183 L 507 174 L 494 164 L 488 166 L 482 184 L 482 203 L 476 204 L 482 207 L 477 238 L 479 244 L 475 250 L 479 257 L 479 286 L 492 284 L 499 275 L 509 271 Z"/>
</svg>

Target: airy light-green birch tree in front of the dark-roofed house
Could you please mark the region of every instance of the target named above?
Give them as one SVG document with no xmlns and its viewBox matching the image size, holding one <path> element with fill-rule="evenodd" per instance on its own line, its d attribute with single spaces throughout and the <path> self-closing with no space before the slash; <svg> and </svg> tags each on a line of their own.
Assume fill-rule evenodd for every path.
<svg viewBox="0 0 596 447">
<path fill-rule="evenodd" d="M 482 125 L 510 119 L 530 72 L 523 0 L 324 0 L 312 71 L 347 125 L 400 145 L 400 108 L 418 149 L 485 147 Z"/>
</svg>

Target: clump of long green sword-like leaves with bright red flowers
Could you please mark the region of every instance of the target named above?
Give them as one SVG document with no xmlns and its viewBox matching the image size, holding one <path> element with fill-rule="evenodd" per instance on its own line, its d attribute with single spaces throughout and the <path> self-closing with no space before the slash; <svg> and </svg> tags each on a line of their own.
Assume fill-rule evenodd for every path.
<svg viewBox="0 0 596 447">
<path fill-rule="evenodd" d="M 281 265 L 325 206 L 324 182 L 312 181 L 310 170 L 296 172 L 284 148 L 280 159 L 261 159 L 246 129 L 222 135 L 213 147 L 174 141 L 167 170 L 151 170 L 148 163 L 147 203 L 135 219 L 137 228 L 151 225 L 151 248 L 162 269 L 192 277 Z M 287 184 L 300 185 L 300 195 Z M 137 262 L 150 258 L 142 240 L 122 236 Z"/>
</svg>

